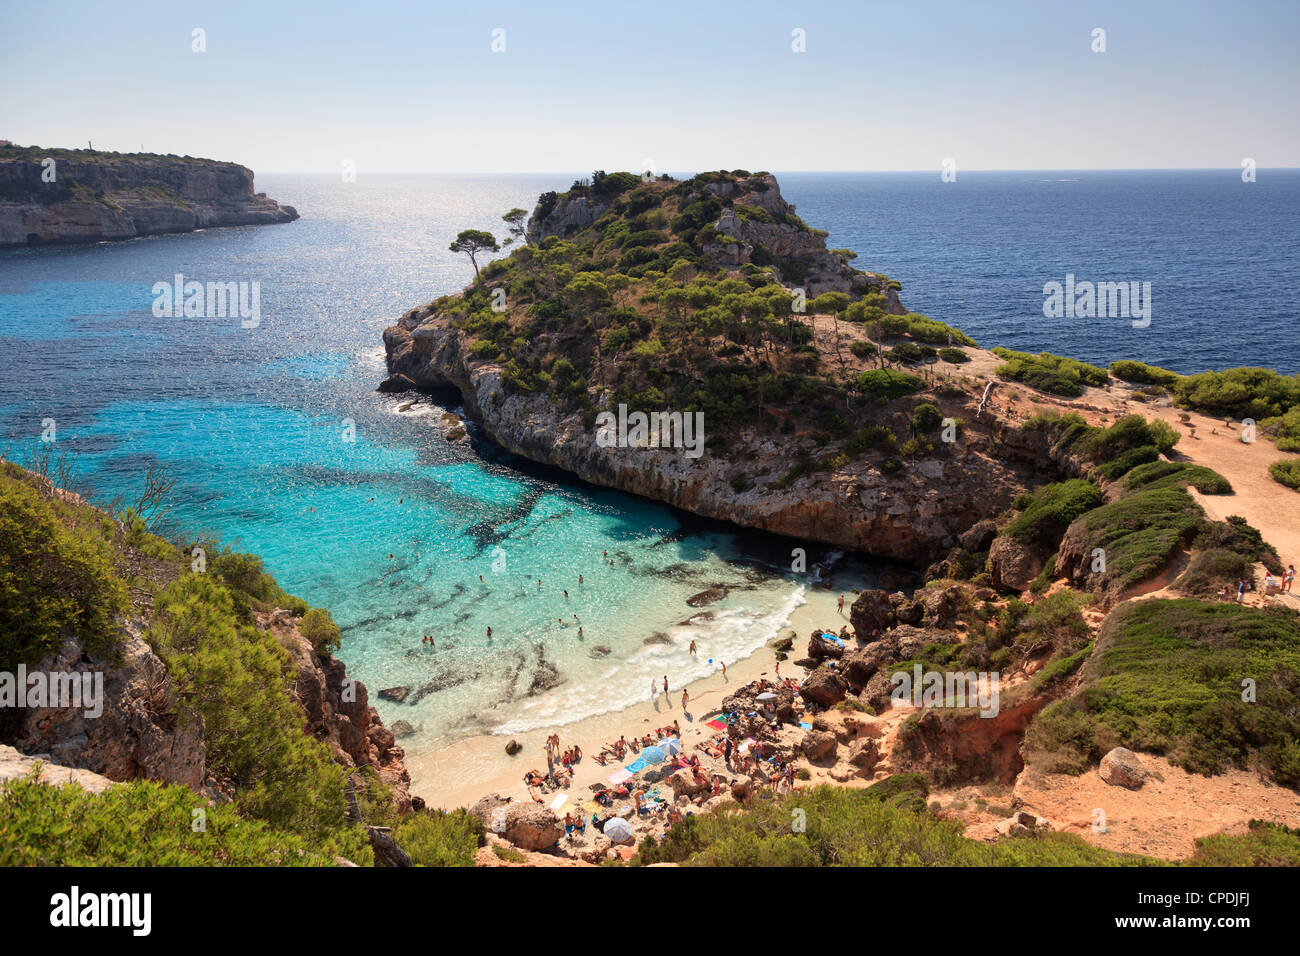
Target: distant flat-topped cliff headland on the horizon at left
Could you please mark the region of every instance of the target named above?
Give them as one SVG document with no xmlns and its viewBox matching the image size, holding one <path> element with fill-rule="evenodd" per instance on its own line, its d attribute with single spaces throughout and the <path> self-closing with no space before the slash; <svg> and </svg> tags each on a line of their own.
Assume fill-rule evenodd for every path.
<svg viewBox="0 0 1300 956">
<path fill-rule="evenodd" d="M 234 163 L 0 146 L 0 247 L 292 222 Z"/>
</svg>

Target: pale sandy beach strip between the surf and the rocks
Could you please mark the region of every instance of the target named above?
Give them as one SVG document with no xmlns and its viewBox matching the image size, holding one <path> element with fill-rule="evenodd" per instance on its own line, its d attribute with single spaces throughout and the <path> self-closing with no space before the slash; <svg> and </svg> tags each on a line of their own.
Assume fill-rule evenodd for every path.
<svg viewBox="0 0 1300 956">
<path fill-rule="evenodd" d="M 777 637 L 794 632 L 794 645 L 789 652 L 789 658 L 781 663 L 781 676 L 802 679 L 805 670 L 797 667 L 794 658 L 802 658 L 803 653 L 800 641 L 807 641 L 807 635 L 815 627 L 828 627 L 831 623 L 848 624 L 848 609 L 853 604 L 853 591 L 862 581 L 844 581 L 840 589 L 810 588 L 805 591 L 805 601 L 789 615 L 789 620 L 781 626 Z M 845 596 L 845 611 L 841 615 L 836 610 L 836 597 Z M 681 648 L 681 654 L 688 654 L 686 648 Z M 698 652 L 707 658 L 707 649 Z M 620 735 L 632 737 L 642 734 L 654 735 L 658 727 L 668 726 L 677 721 L 681 727 L 682 749 L 690 752 L 696 743 L 714 734 L 705 724 L 706 715 L 711 715 L 722 708 L 723 700 L 746 683 L 767 676 L 775 679 L 776 652 L 771 643 L 764 644 L 749 657 L 736 662 L 727 662 L 727 678 L 718 669 L 707 678 L 689 682 L 685 685 L 689 693 L 688 713 L 681 709 L 682 687 L 672 683 L 668 675 L 668 695 L 660 692 L 654 702 L 647 698 L 619 710 L 610 710 L 593 717 L 581 718 L 572 723 L 541 727 L 523 734 L 481 734 L 462 737 L 445 747 L 426 753 L 407 752 L 404 762 L 411 774 L 411 793 L 420 796 L 430 808 L 454 809 L 458 806 L 472 806 L 480 799 L 491 793 L 500 793 L 514 800 L 529 801 L 528 788 L 524 786 L 524 774 L 529 770 L 541 770 L 546 766 L 545 741 L 551 734 L 559 734 L 560 747 L 567 749 L 572 744 L 582 748 L 582 760 L 576 765 L 573 779 L 567 788 L 559 793 L 568 796 L 568 800 L 559 812 L 563 814 L 573 804 L 581 804 L 590 793 L 588 786 L 592 783 L 607 783 L 607 778 L 620 766 L 630 763 L 637 757 L 629 753 L 621 761 L 611 760 L 602 766 L 594 760 L 594 754 L 601 752 L 604 743 L 616 740 Z M 689 717 L 688 717 L 689 714 Z M 506 753 L 506 744 L 516 740 L 523 749 L 515 756 Z M 545 773 L 545 771 L 542 771 Z M 546 803 L 555 799 L 555 793 L 546 795 Z"/>
</svg>

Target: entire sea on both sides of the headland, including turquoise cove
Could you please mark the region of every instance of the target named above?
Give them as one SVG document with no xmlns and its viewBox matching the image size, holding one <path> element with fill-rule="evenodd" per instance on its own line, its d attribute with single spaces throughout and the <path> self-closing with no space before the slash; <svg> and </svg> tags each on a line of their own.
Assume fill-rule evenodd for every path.
<svg viewBox="0 0 1300 956">
<path fill-rule="evenodd" d="M 1300 369 L 1300 173 L 779 178 L 832 247 L 982 345 Z M 802 580 L 779 574 L 789 542 L 448 445 L 438 410 L 400 412 L 408 397 L 374 392 L 384 328 L 472 276 L 447 250 L 455 234 L 499 234 L 504 211 L 572 179 L 259 176 L 299 221 L 0 252 L 0 450 L 23 460 L 53 419 L 56 447 L 104 497 L 164 464 L 176 528 L 261 554 L 329 607 L 372 688 L 437 688 L 413 709 L 381 704 L 421 728 L 410 745 L 620 708 L 670 666 L 675 687 L 703 676 L 708 657 L 750 653 L 805 600 Z M 1150 326 L 1044 319 L 1043 285 L 1067 272 L 1149 281 Z M 152 286 L 177 273 L 259 282 L 260 325 L 156 317 Z M 714 584 L 728 598 L 682 624 L 684 598 Z M 673 643 L 646 644 L 655 633 Z M 685 662 L 692 637 L 706 653 Z M 563 683 L 529 695 L 542 659 Z"/>
</svg>

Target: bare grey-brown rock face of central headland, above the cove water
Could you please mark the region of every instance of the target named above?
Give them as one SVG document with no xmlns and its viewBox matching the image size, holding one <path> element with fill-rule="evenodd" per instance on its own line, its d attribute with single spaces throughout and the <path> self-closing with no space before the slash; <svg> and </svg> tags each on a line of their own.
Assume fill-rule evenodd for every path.
<svg viewBox="0 0 1300 956">
<path fill-rule="evenodd" d="M 446 316 L 416 311 L 385 330 L 390 378 L 385 390 L 455 388 L 467 414 L 498 445 L 563 468 L 592 484 L 667 502 L 693 514 L 805 541 L 849 548 L 923 564 L 957 544 L 979 519 L 997 514 L 1023 492 L 1041 460 L 1026 449 L 1009 460 L 974 450 L 909 464 L 888 473 L 854 460 L 814 472 L 777 490 L 736 490 L 755 473 L 784 475 L 789 447 L 755 429 L 732 440 L 725 458 L 679 449 L 601 447 L 577 411 L 552 399 L 510 390 L 502 368 L 468 354 L 465 337 Z M 975 436 L 974 415 L 967 421 Z M 707 423 L 706 423 L 707 434 Z M 1039 479 L 1041 480 L 1041 479 Z"/>
</svg>

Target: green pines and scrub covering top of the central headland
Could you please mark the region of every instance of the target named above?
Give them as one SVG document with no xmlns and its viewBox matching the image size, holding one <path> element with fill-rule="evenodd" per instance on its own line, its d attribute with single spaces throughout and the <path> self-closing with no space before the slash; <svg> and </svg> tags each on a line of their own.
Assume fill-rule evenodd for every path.
<svg viewBox="0 0 1300 956">
<path fill-rule="evenodd" d="M 698 411 L 714 450 L 740 425 L 776 434 L 798 428 L 829 447 L 797 463 L 797 473 L 772 476 L 777 486 L 863 454 L 896 466 L 898 455 L 935 454 L 939 444 L 916 433 L 905 399 L 926 388 L 941 358 L 966 360 L 956 346 L 974 341 L 927 316 L 892 313 L 888 293 L 897 284 L 854 269 L 848 255 L 838 255 L 840 281 L 854 291 L 805 299 L 798 286 L 811 254 L 777 255 L 718 228 L 732 213 L 784 230 L 789 248 L 819 247 L 774 189 L 767 174 L 746 170 L 682 182 L 598 170 L 564 194 L 543 194 L 533 242 L 426 310 L 465 333 L 472 360 L 499 364 L 507 389 L 547 394 L 589 423 L 620 403 Z M 578 202 L 607 208 L 537 241 L 541 225 L 562 221 Z M 476 251 L 497 242 L 472 238 Z M 829 316 L 832 330 L 814 333 L 814 315 Z"/>
</svg>

